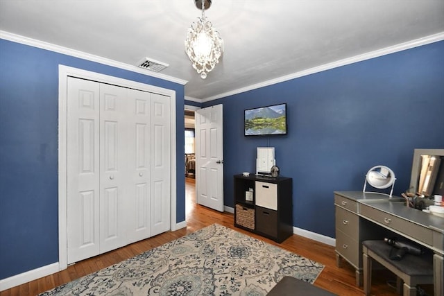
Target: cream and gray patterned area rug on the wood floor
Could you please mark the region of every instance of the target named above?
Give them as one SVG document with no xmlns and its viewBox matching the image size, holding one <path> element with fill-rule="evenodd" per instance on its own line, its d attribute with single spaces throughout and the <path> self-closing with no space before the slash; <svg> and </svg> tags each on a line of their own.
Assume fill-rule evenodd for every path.
<svg viewBox="0 0 444 296">
<path fill-rule="evenodd" d="M 210 225 L 40 295 L 266 295 L 284 276 L 313 284 L 323 265 Z"/>
</svg>

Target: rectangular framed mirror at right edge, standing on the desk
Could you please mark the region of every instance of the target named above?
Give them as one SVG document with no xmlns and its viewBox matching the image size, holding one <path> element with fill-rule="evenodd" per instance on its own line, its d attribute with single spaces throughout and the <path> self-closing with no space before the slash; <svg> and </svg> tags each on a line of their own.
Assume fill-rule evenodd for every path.
<svg viewBox="0 0 444 296">
<path fill-rule="evenodd" d="M 425 197 L 444 193 L 444 149 L 415 149 L 409 192 Z"/>
</svg>

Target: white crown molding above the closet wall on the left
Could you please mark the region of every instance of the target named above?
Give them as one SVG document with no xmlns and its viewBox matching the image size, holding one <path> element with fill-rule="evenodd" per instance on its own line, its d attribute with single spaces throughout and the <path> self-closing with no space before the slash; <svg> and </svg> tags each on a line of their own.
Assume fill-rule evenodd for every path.
<svg viewBox="0 0 444 296">
<path fill-rule="evenodd" d="M 171 82 L 176 82 L 179 83 L 180 85 L 186 85 L 187 84 L 187 80 L 183 80 L 183 79 L 179 79 L 176 77 L 172 77 L 172 76 L 168 76 L 162 73 L 157 73 L 157 72 L 152 72 L 152 71 L 148 71 L 146 69 L 141 69 L 137 66 L 134 66 L 132 64 L 125 64 L 123 62 L 117 62 L 115 60 L 110 60 L 107 58 L 102 58 L 99 55 L 92 55 L 90 53 L 85 53 L 83 51 L 76 51 L 75 49 L 69 49 L 67 47 L 63 47 L 63 46 L 58 46 L 56 44 L 51 44 L 48 42 L 43 42 L 40 40 L 35 40 L 32 38 L 28 38 L 28 37 L 24 37 L 21 35 L 16 35 L 16 34 L 12 34 L 12 33 L 8 33 L 6 31 L 0 31 L 0 38 L 4 39 L 4 40 L 9 40 L 12 42 L 17 42 L 20 44 L 25 44 L 25 45 L 29 45 L 29 46 L 33 46 L 33 47 L 37 47 L 39 49 L 46 49 L 47 51 L 53 51 L 55 53 L 62 53 L 65 55 L 71 55 L 75 58 L 81 58 L 83 60 L 89 60 L 92 62 L 99 62 L 100 64 L 106 64 L 108 66 L 112 66 L 112 67 L 116 67 L 119 69 L 125 69 L 128 71 L 133 71 L 136 73 L 141 73 L 144 74 L 146 76 L 152 76 L 155 78 L 160 78 L 163 80 L 167 80 L 167 81 L 171 81 Z"/>
</svg>

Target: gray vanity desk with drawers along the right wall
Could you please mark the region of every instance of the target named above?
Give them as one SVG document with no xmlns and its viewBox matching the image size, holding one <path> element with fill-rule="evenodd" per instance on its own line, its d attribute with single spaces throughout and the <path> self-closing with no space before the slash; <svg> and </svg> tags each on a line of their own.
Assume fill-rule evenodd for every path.
<svg viewBox="0 0 444 296">
<path fill-rule="evenodd" d="M 434 293 L 444 295 L 444 218 L 404 205 L 403 199 L 361 191 L 334 192 L 336 264 L 348 261 L 362 284 L 362 241 L 399 234 L 434 252 Z"/>
</svg>

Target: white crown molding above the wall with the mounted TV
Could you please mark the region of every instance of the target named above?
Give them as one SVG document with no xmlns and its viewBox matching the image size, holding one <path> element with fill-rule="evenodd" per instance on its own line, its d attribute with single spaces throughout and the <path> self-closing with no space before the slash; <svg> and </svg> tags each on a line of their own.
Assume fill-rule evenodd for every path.
<svg viewBox="0 0 444 296">
<path fill-rule="evenodd" d="M 275 78 L 275 79 L 271 79 L 271 80 L 266 80 L 264 82 L 260 82 L 257 83 L 255 85 L 249 85 L 248 87 L 242 87 L 240 89 L 234 89 L 230 92 L 225 92 L 223 94 L 218 94 L 216 96 L 210 96 L 209 98 L 205 98 L 203 100 L 201 100 L 200 102 L 204 103 L 204 102 L 208 102 L 208 101 L 213 101 L 216 100 L 218 98 L 225 98 L 226 96 L 232 96 L 234 94 L 240 94 L 242 92 L 248 92 L 252 89 L 258 89 L 260 87 L 266 87 L 269 85 L 275 85 L 276 83 L 280 83 L 280 82 L 284 82 L 284 81 L 288 81 L 291 79 L 295 79 L 295 78 L 300 78 L 302 76 L 307 76 L 307 75 L 311 75 L 314 73 L 319 73 L 322 71 L 326 71 L 326 70 L 330 70 L 330 69 L 334 69 L 337 67 L 342 67 L 345 66 L 347 64 L 353 64 L 355 62 L 361 62 L 364 60 L 370 60 L 372 58 L 378 58 L 382 55 L 388 55 L 390 53 L 396 53 L 398 51 L 405 51 L 407 49 L 413 49 L 414 47 L 417 46 L 422 46 L 422 45 L 426 45 L 426 44 L 430 44 L 430 43 L 434 43 L 434 42 L 438 42 L 438 41 L 442 41 L 444 40 L 444 32 L 438 33 L 438 34 L 434 34 L 434 35 L 430 35 L 427 37 L 422 37 L 416 40 L 411 40 L 409 42 L 404 42 L 401 44 L 397 44 L 394 46 L 388 46 L 385 49 L 378 49 L 377 51 L 371 51 L 370 53 L 364 53 L 361 55 L 356 55 L 354 57 L 351 58 L 345 58 L 343 60 L 339 60 L 336 62 L 330 62 L 328 64 L 323 64 L 321 66 L 318 67 L 314 67 L 314 68 L 310 68 L 310 69 L 306 69 L 303 71 L 299 71 L 296 73 L 291 73 L 289 75 L 286 76 L 282 76 L 279 78 Z"/>
</svg>

